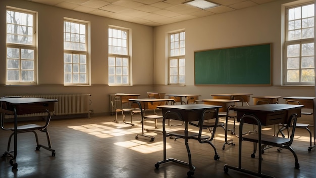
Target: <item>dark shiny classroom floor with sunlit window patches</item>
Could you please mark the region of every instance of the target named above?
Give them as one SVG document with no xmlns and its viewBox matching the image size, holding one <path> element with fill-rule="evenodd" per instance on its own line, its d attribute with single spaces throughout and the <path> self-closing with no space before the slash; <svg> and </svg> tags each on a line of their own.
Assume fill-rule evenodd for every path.
<svg viewBox="0 0 316 178">
<path fill-rule="evenodd" d="M 133 118 L 139 120 L 138 116 Z M 113 120 L 113 116 L 53 119 L 48 130 L 56 157 L 51 157 L 51 153 L 42 148 L 35 150 L 33 133 L 20 133 L 16 159 L 18 170 L 11 169 L 9 158 L 0 159 L 0 177 L 187 177 L 188 167 L 176 163 L 165 163 L 155 169 L 154 164 L 163 160 L 162 134 L 148 133 L 155 135 L 153 142 L 142 137 L 136 140 L 136 133 L 141 132 L 139 122 L 131 126 L 114 123 Z M 149 121 L 145 124 L 149 125 L 145 127 L 153 125 Z M 278 152 L 271 148 L 262 156 L 263 173 L 275 177 L 316 177 L 316 155 L 314 150 L 307 152 L 307 132 L 298 129 L 296 133 L 302 136 L 297 137 L 293 144 L 300 169 L 294 168 L 294 158 L 288 150 Z M 10 134 L 11 131 L 0 130 L 0 150 L 7 149 Z M 46 144 L 44 133 L 38 134 L 40 142 Z M 194 177 L 253 177 L 234 170 L 224 173 L 224 164 L 238 165 L 238 138 L 230 135 L 236 145 L 226 146 L 222 150 L 223 136 L 224 131 L 219 128 L 213 141 L 220 155 L 219 160 L 214 160 L 214 150 L 208 144 L 189 140 L 192 163 L 196 167 Z M 188 160 L 183 139 L 167 139 L 167 143 L 167 158 Z M 258 160 L 250 158 L 251 153 L 252 143 L 244 143 L 242 166 L 257 171 Z"/>
</svg>

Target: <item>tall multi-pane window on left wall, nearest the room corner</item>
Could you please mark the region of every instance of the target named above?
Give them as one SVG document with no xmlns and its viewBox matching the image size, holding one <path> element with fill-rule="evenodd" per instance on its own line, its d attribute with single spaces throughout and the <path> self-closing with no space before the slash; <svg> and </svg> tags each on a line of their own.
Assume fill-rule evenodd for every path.
<svg viewBox="0 0 316 178">
<path fill-rule="evenodd" d="M 128 30 L 109 28 L 109 84 L 130 84 Z"/>
</svg>

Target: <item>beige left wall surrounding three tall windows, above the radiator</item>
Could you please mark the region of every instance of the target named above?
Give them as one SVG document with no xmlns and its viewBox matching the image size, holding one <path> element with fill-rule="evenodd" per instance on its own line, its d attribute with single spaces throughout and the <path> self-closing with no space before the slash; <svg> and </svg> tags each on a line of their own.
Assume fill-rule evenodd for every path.
<svg viewBox="0 0 316 178">
<path fill-rule="evenodd" d="M 6 86 L 6 6 L 38 12 L 38 86 Z M 63 19 L 80 19 L 91 25 L 91 86 L 64 86 Z M 88 93 L 94 113 L 109 112 L 109 94 L 153 91 L 153 28 L 28 1 L 0 1 L 0 96 L 24 94 Z M 108 86 L 108 27 L 121 26 L 132 33 L 132 81 L 134 86 Z"/>
</svg>

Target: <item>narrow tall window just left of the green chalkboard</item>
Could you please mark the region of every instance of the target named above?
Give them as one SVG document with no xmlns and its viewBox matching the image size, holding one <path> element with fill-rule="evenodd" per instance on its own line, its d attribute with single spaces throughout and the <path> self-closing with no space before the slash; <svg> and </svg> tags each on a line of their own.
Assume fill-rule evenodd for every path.
<svg viewBox="0 0 316 178">
<path fill-rule="evenodd" d="M 169 84 L 185 83 L 185 32 L 170 34 Z"/>
</svg>

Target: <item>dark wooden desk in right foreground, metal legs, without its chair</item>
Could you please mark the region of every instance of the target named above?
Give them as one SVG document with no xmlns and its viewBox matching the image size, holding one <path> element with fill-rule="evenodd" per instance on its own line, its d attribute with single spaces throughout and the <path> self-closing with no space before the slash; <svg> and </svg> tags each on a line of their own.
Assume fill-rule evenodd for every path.
<svg viewBox="0 0 316 178">
<path fill-rule="evenodd" d="M 279 123 L 287 123 L 287 120 L 291 117 L 292 114 L 297 114 L 297 117 L 301 116 L 301 108 L 303 105 L 287 105 L 287 104 L 263 104 L 263 105 L 252 105 L 252 106 L 243 106 L 235 107 L 232 110 L 237 111 L 237 121 L 240 121 L 241 117 L 244 114 L 252 114 L 256 117 L 261 125 L 273 125 Z M 257 124 L 253 119 L 244 119 L 245 123 Z M 261 146 L 261 125 L 258 125 L 258 145 Z M 239 127 L 239 161 L 238 167 L 230 166 L 225 164 L 224 171 L 228 172 L 228 168 L 241 171 L 244 173 L 249 173 L 252 175 L 260 177 L 272 177 L 261 173 L 261 150 L 258 151 L 259 154 L 259 166 L 258 172 L 253 172 L 242 168 L 241 166 L 241 152 L 242 152 L 242 127 Z M 253 133 L 254 134 L 254 133 Z"/>
</svg>

